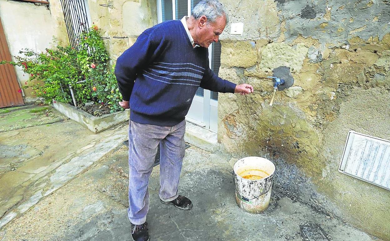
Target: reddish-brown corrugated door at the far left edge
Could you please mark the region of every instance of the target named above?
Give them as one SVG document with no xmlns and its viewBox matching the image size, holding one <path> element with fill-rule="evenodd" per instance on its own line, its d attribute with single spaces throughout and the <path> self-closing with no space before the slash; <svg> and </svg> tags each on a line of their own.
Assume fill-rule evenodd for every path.
<svg viewBox="0 0 390 241">
<path fill-rule="evenodd" d="M 3 60 L 11 61 L 12 59 L 0 19 L 0 61 Z M 11 64 L 0 64 L 0 108 L 23 105 L 23 97 L 19 91 L 15 67 Z"/>
</svg>

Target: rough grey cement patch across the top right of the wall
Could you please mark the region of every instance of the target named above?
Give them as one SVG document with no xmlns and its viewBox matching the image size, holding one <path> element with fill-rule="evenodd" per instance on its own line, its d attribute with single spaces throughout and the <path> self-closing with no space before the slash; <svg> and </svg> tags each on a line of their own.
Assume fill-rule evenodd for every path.
<svg viewBox="0 0 390 241">
<path fill-rule="evenodd" d="M 365 40 L 378 36 L 381 40 L 390 28 L 390 5 L 384 1 L 286 0 L 278 9 L 280 21 L 286 21 L 287 42 L 302 35 L 340 46 L 355 36 Z"/>
</svg>

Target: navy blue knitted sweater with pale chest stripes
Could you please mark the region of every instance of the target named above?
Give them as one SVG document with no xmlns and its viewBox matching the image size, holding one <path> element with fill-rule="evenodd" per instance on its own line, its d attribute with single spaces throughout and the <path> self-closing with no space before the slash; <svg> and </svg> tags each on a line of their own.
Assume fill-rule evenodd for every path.
<svg viewBox="0 0 390 241">
<path fill-rule="evenodd" d="M 207 48 L 193 48 L 179 20 L 145 30 L 115 65 L 132 121 L 174 126 L 184 120 L 198 87 L 234 93 L 236 84 L 209 68 Z"/>
</svg>

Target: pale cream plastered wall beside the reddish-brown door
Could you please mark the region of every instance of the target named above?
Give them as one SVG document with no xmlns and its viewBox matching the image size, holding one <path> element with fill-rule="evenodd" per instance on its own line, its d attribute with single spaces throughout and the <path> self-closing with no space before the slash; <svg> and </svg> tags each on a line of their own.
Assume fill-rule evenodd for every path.
<svg viewBox="0 0 390 241">
<path fill-rule="evenodd" d="M 12 56 L 19 55 L 25 48 L 44 52 L 51 46 L 54 25 L 47 5 L 3 0 L 0 1 L 0 16 Z M 25 86 L 28 75 L 19 66 L 15 70 L 20 86 Z M 31 88 L 23 89 L 27 103 L 34 100 L 31 92 Z"/>
</svg>

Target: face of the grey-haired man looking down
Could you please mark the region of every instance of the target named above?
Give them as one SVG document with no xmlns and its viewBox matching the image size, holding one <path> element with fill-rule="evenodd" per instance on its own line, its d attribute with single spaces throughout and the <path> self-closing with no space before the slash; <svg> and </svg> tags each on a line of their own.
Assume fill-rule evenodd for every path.
<svg viewBox="0 0 390 241">
<path fill-rule="evenodd" d="M 226 21 L 225 17 L 219 17 L 214 23 L 206 23 L 206 20 L 201 17 L 198 22 L 199 27 L 199 40 L 198 43 L 204 48 L 208 48 L 211 43 L 218 42 L 220 34 L 225 29 Z"/>
</svg>

